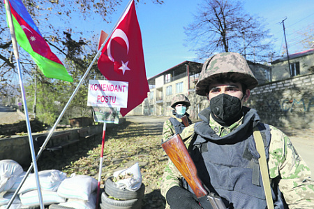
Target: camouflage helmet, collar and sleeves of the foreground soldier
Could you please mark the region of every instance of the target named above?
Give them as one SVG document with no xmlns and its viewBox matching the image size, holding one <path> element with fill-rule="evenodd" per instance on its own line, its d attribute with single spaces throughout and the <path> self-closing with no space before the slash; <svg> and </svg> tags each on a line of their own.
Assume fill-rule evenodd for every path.
<svg viewBox="0 0 314 209">
<path fill-rule="evenodd" d="M 257 86 L 257 80 L 244 57 L 234 52 L 214 55 L 204 62 L 200 80 L 196 85 L 196 93 L 207 96 L 209 84 L 215 80 L 230 79 L 246 85 L 248 89 Z M 209 127 L 223 137 L 237 129 L 244 117 L 229 127 L 223 127 L 213 117 L 209 117 Z M 186 147 L 195 135 L 195 124 L 190 125 L 181 133 Z M 297 154 L 290 139 L 282 131 L 269 126 L 271 141 L 269 145 L 269 178 L 279 178 L 278 187 L 285 197 L 289 208 L 314 208 L 314 182 L 311 171 L 304 160 Z M 182 187 L 182 175 L 177 168 L 168 161 L 161 183 L 161 194 L 166 196 L 167 191 L 174 186 Z M 170 208 L 169 205 L 166 208 Z"/>
</svg>

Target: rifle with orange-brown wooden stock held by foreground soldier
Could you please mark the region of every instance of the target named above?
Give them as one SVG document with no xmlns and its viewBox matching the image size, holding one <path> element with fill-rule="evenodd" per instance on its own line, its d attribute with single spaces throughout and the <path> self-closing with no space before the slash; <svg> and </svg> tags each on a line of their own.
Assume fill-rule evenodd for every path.
<svg viewBox="0 0 314 209">
<path fill-rule="evenodd" d="M 188 182 L 188 185 L 190 185 L 202 208 L 225 209 L 225 204 L 220 196 L 213 192 L 207 192 L 207 189 L 202 185 L 200 178 L 197 176 L 195 164 L 179 134 L 174 134 L 174 136 L 163 142 L 161 146 L 174 166 L 177 167 L 186 182 Z"/>
</svg>

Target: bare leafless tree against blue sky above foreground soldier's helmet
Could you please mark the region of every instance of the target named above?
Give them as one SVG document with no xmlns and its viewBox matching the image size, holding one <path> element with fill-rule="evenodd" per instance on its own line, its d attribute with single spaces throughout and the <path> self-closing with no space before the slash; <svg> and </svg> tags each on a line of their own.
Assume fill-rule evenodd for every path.
<svg viewBox="0 0 314 209">
<path fill-rule="evenodd" d="M 204 0 L 193 22 L 184 27 L 187 45 L 193 46 L 198 59 L 216 52 L 239 52 L 264 62 L 271 52 L 271 35 L 262 21 L 246 13 L 241 1 Z"/>
</svg>

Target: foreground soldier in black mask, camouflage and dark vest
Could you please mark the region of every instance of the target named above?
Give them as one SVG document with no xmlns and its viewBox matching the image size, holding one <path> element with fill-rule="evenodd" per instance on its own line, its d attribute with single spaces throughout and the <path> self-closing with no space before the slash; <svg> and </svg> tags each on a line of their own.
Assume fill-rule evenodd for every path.
<svg viewBox="0 0 314 209">
<path fill-rule="evenodd" d="M 207 96 L 209 107 L 199 113 L 202 122 L 181 133 L 197 175 L 226 208 L 314 208 L 311 171 L 290 139 L 244 106 L 256 86 L 246 59 L 237 53 L 217 54 L 204 62 L 195 90 Z M 259 145 L 265 150 L 264 166 L 255 144 L 257 132 L 264 143 Z M 166 208 L 201 208 L 171 161 L 161 194 Z"/>
</svg>

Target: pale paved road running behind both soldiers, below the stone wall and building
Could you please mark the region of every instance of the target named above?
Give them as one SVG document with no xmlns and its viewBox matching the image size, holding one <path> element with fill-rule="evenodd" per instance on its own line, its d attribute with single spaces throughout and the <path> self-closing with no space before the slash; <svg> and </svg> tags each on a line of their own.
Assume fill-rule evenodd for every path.
<svg viewBox="0 0 314 209">
<path fill-rule="evenodd" d="M 145 126 L 154 127 L 163 133 L 163 122 L 169 117 L 158 116 L 127 116 L 126 120 L 138 122 Z M 306 161 L 312 171 L 311 178 L 314 179 L 314 130 L 313 129 L 281 129 L 287 134 L 296 148 L 297 152 Z"/>
</svg>

